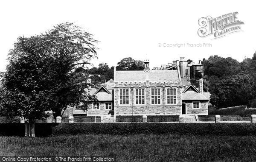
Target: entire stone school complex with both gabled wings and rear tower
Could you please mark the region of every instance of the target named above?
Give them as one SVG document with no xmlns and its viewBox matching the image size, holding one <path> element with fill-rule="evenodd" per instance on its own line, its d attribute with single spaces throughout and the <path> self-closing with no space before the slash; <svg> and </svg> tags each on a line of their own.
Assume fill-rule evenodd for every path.
<svg viewBox="0 0 256 162">
<path fill-rule="evenodd" d="M 192 65 L 184 64 L 180 60 L 172 64 L 176 68 L 150 70 L 149 61 L 145 60 L 144 70 L 115 68 L 113 80 L 98 89 L 89 89 L 98 101 L 91 103 L 87 111 L 70 107 L 64 116 L 208 115 L 209 98 L 204 95 L 203 79 L 199 80 L 198 88 L 192 86 L 189 75 L 183 73 Z"/>
</svg>

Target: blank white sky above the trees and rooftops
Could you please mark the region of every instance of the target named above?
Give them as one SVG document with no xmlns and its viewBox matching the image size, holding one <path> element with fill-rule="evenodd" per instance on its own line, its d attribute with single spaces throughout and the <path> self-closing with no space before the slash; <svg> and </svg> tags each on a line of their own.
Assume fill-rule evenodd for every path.
<svg viewBox="0 0 256 162">
<path fill-rule="evenodd" d="M 0 2 L 0 71 L 19 36 L 44 33 L 61 22 L 75 22 L 99 40 L 92 63 L 110 67 L 121 59 L 149 59 L 150 68 L 172 63 L 180 57 L 193 61 L 211 55 L 242 61 L 256 51 L 253 1 L 166 0 L 5 0 Z M 201 17 L 238 12 L 241 32 L 219 39 L 198 36 Z M 197 44 L 209 47 L 195 47 Z M 185 44 L 184 47 L 166 47 Z M 189 47 L 187 45 L 189 44 Z M 192 47 L 190 47 L 190 45 Z"/>
</svg>

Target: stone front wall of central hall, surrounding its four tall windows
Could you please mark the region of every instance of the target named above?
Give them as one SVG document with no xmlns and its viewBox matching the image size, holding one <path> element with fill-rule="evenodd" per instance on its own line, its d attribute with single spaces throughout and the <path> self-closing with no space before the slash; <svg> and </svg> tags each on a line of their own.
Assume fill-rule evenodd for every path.
<svg viewBox="0 0 256 162">
<path fill-rule="evenodd" d="M 129 89 L 129 104 L 119 104 L 119 89 Z M 145 89 L 145 104 L 136 105 L 135 89 Z M 151 104 L 151 89 L 160 89 L 160 103 Z M 167 105 L 167 88 L 177 88 L 177 99 L 175 105 Z M 114 105 L 115 115 L 173 115 L 181 114 L 181 93 L 184 86 L 181 82 L 141 82 L 141 83 L 115 83 L 114 88 Z"/>
</svg>

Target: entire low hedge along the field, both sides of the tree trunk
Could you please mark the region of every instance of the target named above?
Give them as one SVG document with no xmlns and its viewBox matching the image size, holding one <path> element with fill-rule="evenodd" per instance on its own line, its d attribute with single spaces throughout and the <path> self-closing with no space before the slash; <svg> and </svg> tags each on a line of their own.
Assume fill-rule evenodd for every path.
<svg viewBox="0 0 256 162">
<path fill-rule="evenodd" d="M 24 136 L 23 123 L 0 124 L 0 135 Z M 35 136 L 67 134 L 256 135 L 256 123 L 36 123 Z"/>
</svg>

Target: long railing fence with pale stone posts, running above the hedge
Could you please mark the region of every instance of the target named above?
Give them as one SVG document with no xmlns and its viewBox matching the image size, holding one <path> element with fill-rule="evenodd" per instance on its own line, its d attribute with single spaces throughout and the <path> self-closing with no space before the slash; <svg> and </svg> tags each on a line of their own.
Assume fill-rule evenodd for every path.
<svg viewBox="0 0 256 162">
<path fill-rule="evenodd" d="M 30 120 L 31 121 L 31 120 Z M 102 116 L 88 117 L 57 117 L 52 120 L 33 119 L 29 122 L 27 119 L 20 119 L 20 123 L 105 123 L 105 122 L 177 122 L 177 123 L 256 123 L 256 115 L 251 117 L 239 116 L 114 116 L 113 120 L 105 120 Z"/>
</svg>

